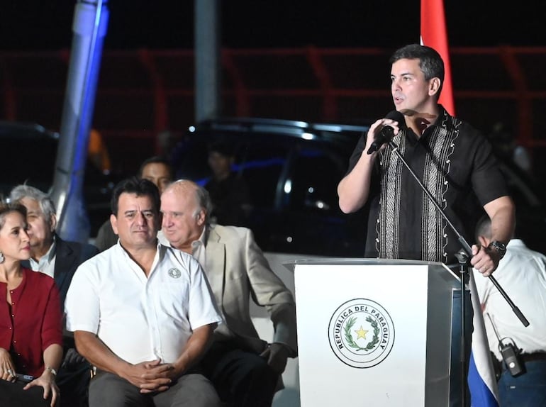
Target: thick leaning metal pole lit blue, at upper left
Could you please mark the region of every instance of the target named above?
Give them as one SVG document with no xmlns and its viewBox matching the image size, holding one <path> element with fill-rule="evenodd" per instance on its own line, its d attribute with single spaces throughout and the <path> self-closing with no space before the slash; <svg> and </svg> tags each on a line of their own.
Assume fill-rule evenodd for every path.
<svg viewBox="0 0 546 407">
<path fill-rule="evenodd" d="M 89 238 L 82 185 L 89 129 L 108 24 L 106 1 L 78 1 L 51 197 L 57 208 L 57 233 L 67 240 Z"/>
</svg>

